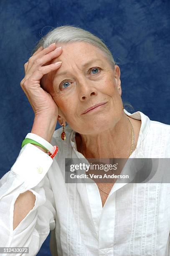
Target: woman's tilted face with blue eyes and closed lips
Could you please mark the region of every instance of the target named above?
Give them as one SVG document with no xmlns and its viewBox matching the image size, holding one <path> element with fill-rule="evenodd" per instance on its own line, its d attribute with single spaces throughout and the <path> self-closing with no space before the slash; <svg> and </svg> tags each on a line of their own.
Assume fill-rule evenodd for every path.
<svg viewBox="0 0 170 256">
<path fill-rule="evenodd" d="M 62 64 L 48 76 L 47 90 L 59 107 L 58 115 L 80 134 L 113 128 L 123 113 L 119 67 L 116 65 L 113 70 L 107 57 L 86 42 L 64 44 L 62 49 L 62 54 L 51 61 Z M 46 83 L 44 80 L 44 87 Z M 83 114 L 104 102 L 107 103 Z"/>
</svg>

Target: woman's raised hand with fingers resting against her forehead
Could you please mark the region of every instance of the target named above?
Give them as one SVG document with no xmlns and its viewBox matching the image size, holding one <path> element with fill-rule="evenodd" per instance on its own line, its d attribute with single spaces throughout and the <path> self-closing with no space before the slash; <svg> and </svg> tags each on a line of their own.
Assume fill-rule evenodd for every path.
<svg viewBox="0 0 170 256">
<path fill-rule="evenodd" d="M 45 49 L 41 46 L 24 64 L 25 77 L 20 85 L 33 108 L 35 117 L 53 116 L 57 121 L 58 106 L 51 95 L 41 88 L 40 80 L 43 75 L 61 67 L 61 61 L 45 66 L 53 58 L 60 56 L 61 52 L 62 49 L 56 48 L 56 44 L 51 44 Z"/>
</svg>

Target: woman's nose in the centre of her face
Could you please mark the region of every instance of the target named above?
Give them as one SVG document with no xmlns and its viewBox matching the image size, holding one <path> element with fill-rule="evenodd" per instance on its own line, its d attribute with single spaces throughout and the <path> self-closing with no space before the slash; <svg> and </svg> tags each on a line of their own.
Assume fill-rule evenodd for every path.
<svg viewBox="0 0 170 256">
<path fill-rule="evenodd" d="M 96 87 L 94 86 L 92 81 L 88 81 L 84 79 L 83 81 L 79 81 L 79 98 L 81 101 L 89 100 L 90 97 L 97 95 Z"/>
</svg>

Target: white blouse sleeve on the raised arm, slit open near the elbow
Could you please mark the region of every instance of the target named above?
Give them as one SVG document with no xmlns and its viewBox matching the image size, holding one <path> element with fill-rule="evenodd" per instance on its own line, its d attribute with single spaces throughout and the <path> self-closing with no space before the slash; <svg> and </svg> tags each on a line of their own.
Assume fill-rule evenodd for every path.
<svg viewBox="0 0 170 256">
<path fill-rule="evenodd" d="M 52 163 L 50 156 L 28 143 L 11 170 L 0 179 L 0 247 L 29 247 L 29 254 L 17 255 L 36 255 L 50 230 L 55 228 L 53 192 L 46 175 Z M 15 201 L 27 190 L 36 196 L 35 205 L 13 230 Z"/>
</svg>

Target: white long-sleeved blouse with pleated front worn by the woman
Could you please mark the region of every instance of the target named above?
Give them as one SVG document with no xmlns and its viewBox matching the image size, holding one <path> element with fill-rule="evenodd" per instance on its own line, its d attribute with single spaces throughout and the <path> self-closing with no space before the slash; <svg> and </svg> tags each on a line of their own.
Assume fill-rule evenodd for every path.
<svg viewBox="0 0 170 256">
<path fill-rule="evenodd" d="M 142 121 L 130 158 L 170 158 L 170 125 L 124 112 Z M 51 140 L 53 160 L 28 143 L 0 180 L 0 247 L 29 247 L 22 255 L 33 256 L 51 230 L 53 256 L 170 256 L 170 184 L 116 182 L 102 207 L 95 182 L 65 183 L 65 158 L 84 156 L 75 131 L 66 126 L 66 141 L 61 132 Z M 27 190 L 35 206 L 13 230 L 15 200 Z"/>
</svg>

